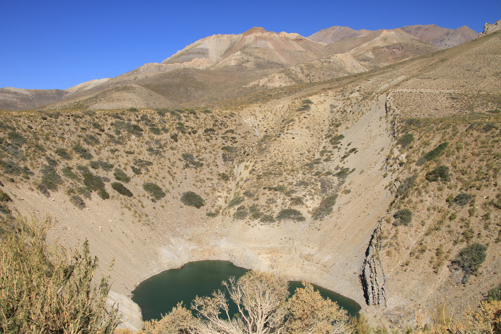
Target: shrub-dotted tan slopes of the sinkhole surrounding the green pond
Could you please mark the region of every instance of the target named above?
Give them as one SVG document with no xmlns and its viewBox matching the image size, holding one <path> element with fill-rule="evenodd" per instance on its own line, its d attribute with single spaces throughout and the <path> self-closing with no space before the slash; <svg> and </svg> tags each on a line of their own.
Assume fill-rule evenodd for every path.
<svg viewBox="0 0 501 334">
<path fill-rule="evenodd" d="M 317 283 L 395 328 L 415 303 L 476 305 L 501 280 L 499 50 L 491 33 L 193 108 L 4 111 L 2 228 L 51 214 L 54 238 L 115 257 L 136 325 L 134 287 L 201 259 Z"/>
</svg>

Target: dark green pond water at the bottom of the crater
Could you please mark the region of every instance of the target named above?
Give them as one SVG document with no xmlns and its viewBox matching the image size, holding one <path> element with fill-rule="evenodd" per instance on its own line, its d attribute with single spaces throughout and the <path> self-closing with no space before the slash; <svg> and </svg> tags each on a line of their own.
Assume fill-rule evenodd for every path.
<svg viewBox="0 0 501 334">
<path fill-rule="evenodd" d="M 139 305 L 143 320 L 160 319 L 161 314 L 172 310 L 182 301 L 189 308 L 195 296 L 208 296 L 214 290 L 223 289 L 223 280 L 229 276 L 236 278 L 247 272 L 248 269 L 235 266 L 229 261 L 204 260 L 186 263 L 182 268 L 170 269 L 151 276 L 142 281 L 134 291 L 132 300 Z M 339 293 L 312 284 L 320 294 L 345 308 L 352 316 L 358 316 L 360 305 Z M 297 287 L 303 287 L 299 281 L 289 282 L 291 294 Z M 236 306 L 230 304 L 230 314 L 237 312 Z"/>
</svg>

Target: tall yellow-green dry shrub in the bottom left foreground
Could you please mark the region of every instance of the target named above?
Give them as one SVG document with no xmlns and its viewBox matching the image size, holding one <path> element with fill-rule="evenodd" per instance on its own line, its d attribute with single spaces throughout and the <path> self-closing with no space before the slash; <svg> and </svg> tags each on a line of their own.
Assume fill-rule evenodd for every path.
<svg viewBox="0 0 501 334">
<path fill-rule="evenodd" d="M 111 266 L 95 281 L 97 257 L 86 240 L 68 249 L 47 243 L 54 226 L 18 218 L 0 244 L 0 332 L 111 333 L 120 323 L 118 306 L 106 307 Z"/>
</svg>

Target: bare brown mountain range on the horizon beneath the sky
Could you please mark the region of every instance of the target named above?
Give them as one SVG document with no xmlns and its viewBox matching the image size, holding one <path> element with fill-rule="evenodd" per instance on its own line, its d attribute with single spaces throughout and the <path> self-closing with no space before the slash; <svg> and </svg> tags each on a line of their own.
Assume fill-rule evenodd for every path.
<svg viewBox="0 0 501 334">
<path fill-rule="evenodd" d="M 378 69 L 438 50 L 428 43 L 440 40 L 436 42 L 439 48 L 457 45 L 471 39 L 471 32 L 467 27 L 450 30 L 433 25 L 375 32 L 331 27 L 308 39 L 255 27 L 237 35 L 203 38 L 160 64 L 148 63 L 116 78 L 92 80 L 67 90 L 3 88 L 0 108 L 194 107 L 263 87 L 319 82 Z"/>
</svg>

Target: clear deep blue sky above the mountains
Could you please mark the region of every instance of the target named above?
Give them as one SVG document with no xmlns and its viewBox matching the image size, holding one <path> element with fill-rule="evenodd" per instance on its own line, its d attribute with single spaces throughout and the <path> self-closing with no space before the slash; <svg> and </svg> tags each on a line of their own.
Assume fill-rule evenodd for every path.
<svg viewBox="0 0 501 334">
<path fill-rule="evenodd" d="M 0 87 L 65 89 L 162 62 L 214 34 L 252 27 L 310 36 L 332 26 L 392 29 L 501 19 L 501 1 L 0 0 Z"/>
</svg>

